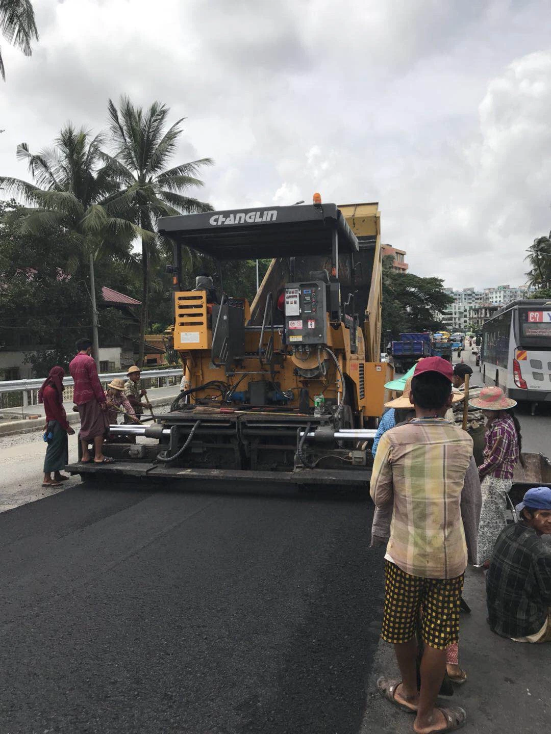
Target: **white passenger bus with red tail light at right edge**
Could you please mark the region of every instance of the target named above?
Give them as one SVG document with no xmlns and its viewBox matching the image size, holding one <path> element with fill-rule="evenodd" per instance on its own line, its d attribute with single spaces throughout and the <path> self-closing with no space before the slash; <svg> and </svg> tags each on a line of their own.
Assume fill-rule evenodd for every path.
<svg viewBox="0 0 551 734">
<path fill-rule="evenodd" d="M 482 327 L 480 371 L 516 401 L 551 401 L 551 300 L 514 301 Z"/>
</svg>

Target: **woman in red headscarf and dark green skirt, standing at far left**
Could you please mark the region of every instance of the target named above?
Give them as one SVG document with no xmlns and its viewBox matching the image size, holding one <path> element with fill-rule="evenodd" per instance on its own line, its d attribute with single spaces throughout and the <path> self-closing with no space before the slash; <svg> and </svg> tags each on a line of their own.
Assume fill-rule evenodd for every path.
<svg viewBox="0 0 551 734">
<path fill-rule="evenodd" d="M 38 393 L 38 402 L 44 404 L 46 412 L 44 433 L 48 441 L 44 459 L 43 487 L 60 487 L 61 482 L 69 479 L 60 473 L 69 463 L 68 435 L 74 433 L 63 407 L 63 377 L 65 371 L 62 367 L 52 367 Z M 51 478 L 52 472 L 54 479 Z"/>
</svg>

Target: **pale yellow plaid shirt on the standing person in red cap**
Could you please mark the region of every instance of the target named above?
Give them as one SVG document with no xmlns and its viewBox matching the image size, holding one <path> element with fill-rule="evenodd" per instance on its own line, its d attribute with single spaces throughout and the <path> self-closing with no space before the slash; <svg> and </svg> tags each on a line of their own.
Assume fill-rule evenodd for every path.
<svg viewBox="0 0 551 734">
<path fill-rule="evenodd" d="M 464 573 L 467 551 L 476 554 L 481 504 L 466 432 L 444 418 L 390 429 L 379 442 L 370 492 L 376 506 L 394 505 L 386 552 L 401 570 L 422 578 Z"/>
</svg>

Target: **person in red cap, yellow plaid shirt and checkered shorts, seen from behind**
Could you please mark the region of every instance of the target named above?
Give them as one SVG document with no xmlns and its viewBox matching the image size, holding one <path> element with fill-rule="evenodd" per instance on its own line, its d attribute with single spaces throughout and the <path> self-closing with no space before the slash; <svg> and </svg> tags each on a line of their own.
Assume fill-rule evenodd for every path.
<svg viewBox="0 0 551 734">
<path fill-rule="evenodd" d="M 446 648 L 458 642 L 459 602 L 468 556 L 476 553 L 480 483 L 472 439 L 444 418 L 452 404 L 453 368 L 440 357 L 417 363 L 411 381 L 416 417 L 381 436 L 370 493 L 393 506 L 385 556 L 381 636 L 394 645 L 401 680 L 379 678 L 381 694 L 415 714 L 414 732 L 453 731 L 460 707 L 437 707 Z M 421 688 L 416 630 L 422 608 Z"/>
</svg>

